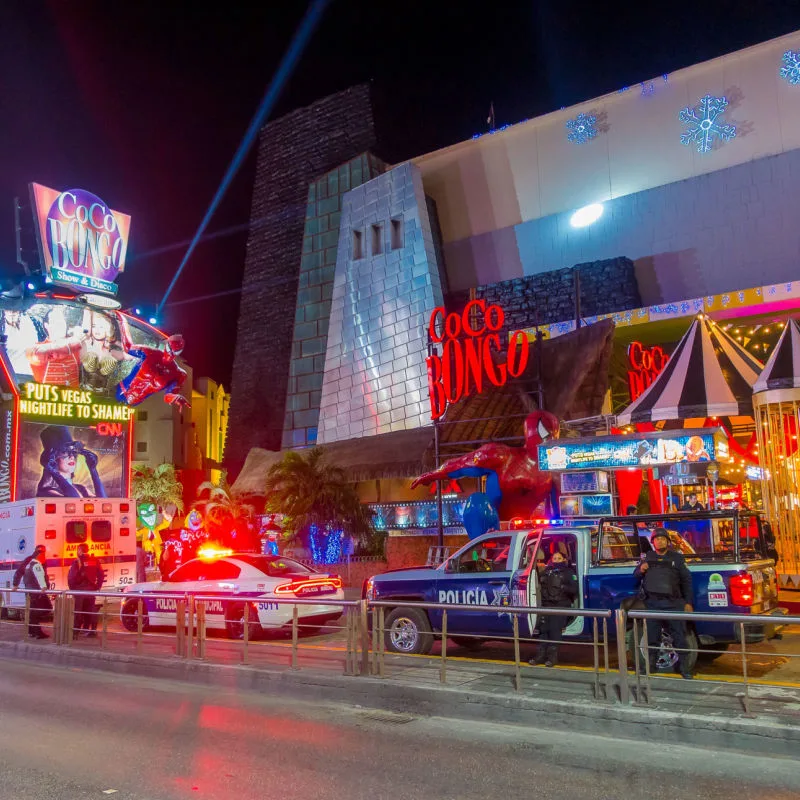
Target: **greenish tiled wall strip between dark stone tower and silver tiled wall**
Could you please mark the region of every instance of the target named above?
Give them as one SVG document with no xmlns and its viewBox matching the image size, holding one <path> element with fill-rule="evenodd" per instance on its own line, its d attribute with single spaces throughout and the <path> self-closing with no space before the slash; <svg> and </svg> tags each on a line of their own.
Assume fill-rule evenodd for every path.
<svg viewBox="0 0 800 800">
<path fill-rule="evenodd" d="M 317 441 L 342 195 L 384 169 L 382 161 L 363 153 L 308 187 L 282 447 Z"/>
</svg>

